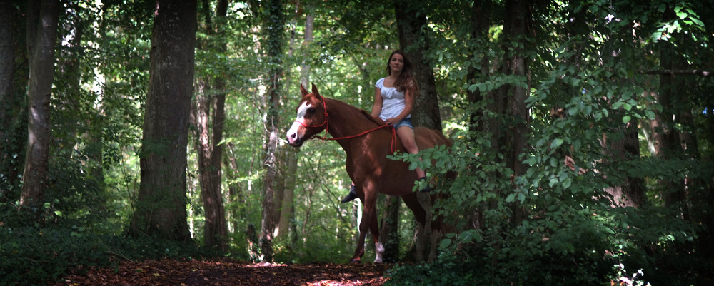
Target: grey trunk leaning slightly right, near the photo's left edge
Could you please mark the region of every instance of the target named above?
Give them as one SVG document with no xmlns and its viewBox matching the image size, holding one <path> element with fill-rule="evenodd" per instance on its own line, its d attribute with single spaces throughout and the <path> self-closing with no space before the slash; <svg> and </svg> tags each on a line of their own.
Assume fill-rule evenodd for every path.
<svg viewBox="0 0 714 286">
<path fill-rule="evenodd" d="M 54 78 L 54 46 L 59 1 L 30 1 L 27 6 L 27 46 L 30 63 L 27 150 L 20 205 L 41 203 L 47 185 L 51 125 L 49 101 Z"/>
</svg>

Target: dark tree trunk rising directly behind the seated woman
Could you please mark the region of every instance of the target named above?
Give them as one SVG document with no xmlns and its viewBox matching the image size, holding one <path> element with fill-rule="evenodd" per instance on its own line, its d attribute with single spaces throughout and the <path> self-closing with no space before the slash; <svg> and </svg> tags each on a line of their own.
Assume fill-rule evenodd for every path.
<svg viewBox="0 0 714 286">
<path fill-rule="evenodd" d="M 419 86 L 411 120 L 414 126 L 424 126 L 441 131 L 438 94 L 433 68 L 424 52 L 429 50 L 429 38 L 422 29 L 426 26 L 426 14 L 421 11 L 421 2 L 398 0 L 394 11 L 399 33 L 399 46 L 413 65 L 413 76 Z M 418 46 L 424 43 L 424 46 Z"/>
</svg>

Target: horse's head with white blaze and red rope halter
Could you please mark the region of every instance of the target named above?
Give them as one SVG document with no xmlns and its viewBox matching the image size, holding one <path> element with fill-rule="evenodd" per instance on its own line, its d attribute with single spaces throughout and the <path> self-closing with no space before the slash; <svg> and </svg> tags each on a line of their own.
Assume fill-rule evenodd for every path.
<svg viewBox="0 0 714 286">
<path fill-rule="evenodd" d="M 325 98 L 320 96 L 316 86 L 312 85 L 312 92 L 300 86 L 303 99 L 296 108 L 297 117 L 290 127 L 286 136 L 288 143 L 295 147 L 303 145 L 303 142 L 315 136 L 315 134 L 325 130 L 327 126 L 327 113 L 325 111 Z"/>
</svg>

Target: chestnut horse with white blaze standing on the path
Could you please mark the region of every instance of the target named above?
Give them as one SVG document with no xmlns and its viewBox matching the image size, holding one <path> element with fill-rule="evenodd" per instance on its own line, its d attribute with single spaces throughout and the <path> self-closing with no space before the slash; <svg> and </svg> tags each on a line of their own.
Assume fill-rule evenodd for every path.
<svg viewBox="0 0 714 286">
<path fill-rule="evenodd" d="M 313 84 L 312 93 L 300 86 L 303 95 L 297 109 L 297 118 L 287 132 L 288 143 L 299 147 L 304 141 L 327 130 L 347 153 L 345 162 L 347 173 L 355 183 L 357 194 L 362 201 L 362 221 L 359 225 L 359 240 L 352 262 L 360 262 L 364 255 L 364 240 L 367 229 L 375 242 L 376 257 L 374 262 L 382 262 L 384 247 L 379 242 L 379 229 L 376 214 L 377 193 L 401 196 L 404 203 L 412 210 L 418 223 L 423 227 L 426 210 L 413 192 L 414 182 L 418 179 L 416 171 L 409 170 L 409 164 L 401 160 L 387 158 L 396 149 L 405 152 L 399 138 L 391 126 L 374 118 L 364 110 L 349 106 L 331 98 L 324 98 Z M 428 128 L 414 128 L 416 143 L 420 150 L 436 145 L 451 145 L 441 132 Z M 322 138 L 326 139 L 326 138 Z M 439 228 L 432 223 L 432 228 Z M 437 232 L 435 231 L 434 234 Z M 423 242 L 423 238 L 420 238 Z M 431 238 L 430 259 L 436 252 L 436 236 Z M 418 247 L 420 248 L 420 247 Z M 421 257 L 421 253 L 417 254 Z"/>
</svg>

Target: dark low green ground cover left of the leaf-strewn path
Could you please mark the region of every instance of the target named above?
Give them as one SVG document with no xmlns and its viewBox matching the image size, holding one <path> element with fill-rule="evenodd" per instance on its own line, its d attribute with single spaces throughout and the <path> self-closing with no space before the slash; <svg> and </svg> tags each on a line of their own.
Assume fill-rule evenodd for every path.
<svg viewBox="0 0 714 286">
<path fill-rule="evenodd" d="M 121 260 L 221 257 L 193 243 L 100 235 L 90 226 L 0 226 L 0 285 L 46 285 L 70 272 L 113 267 Z"/>
</svg>

